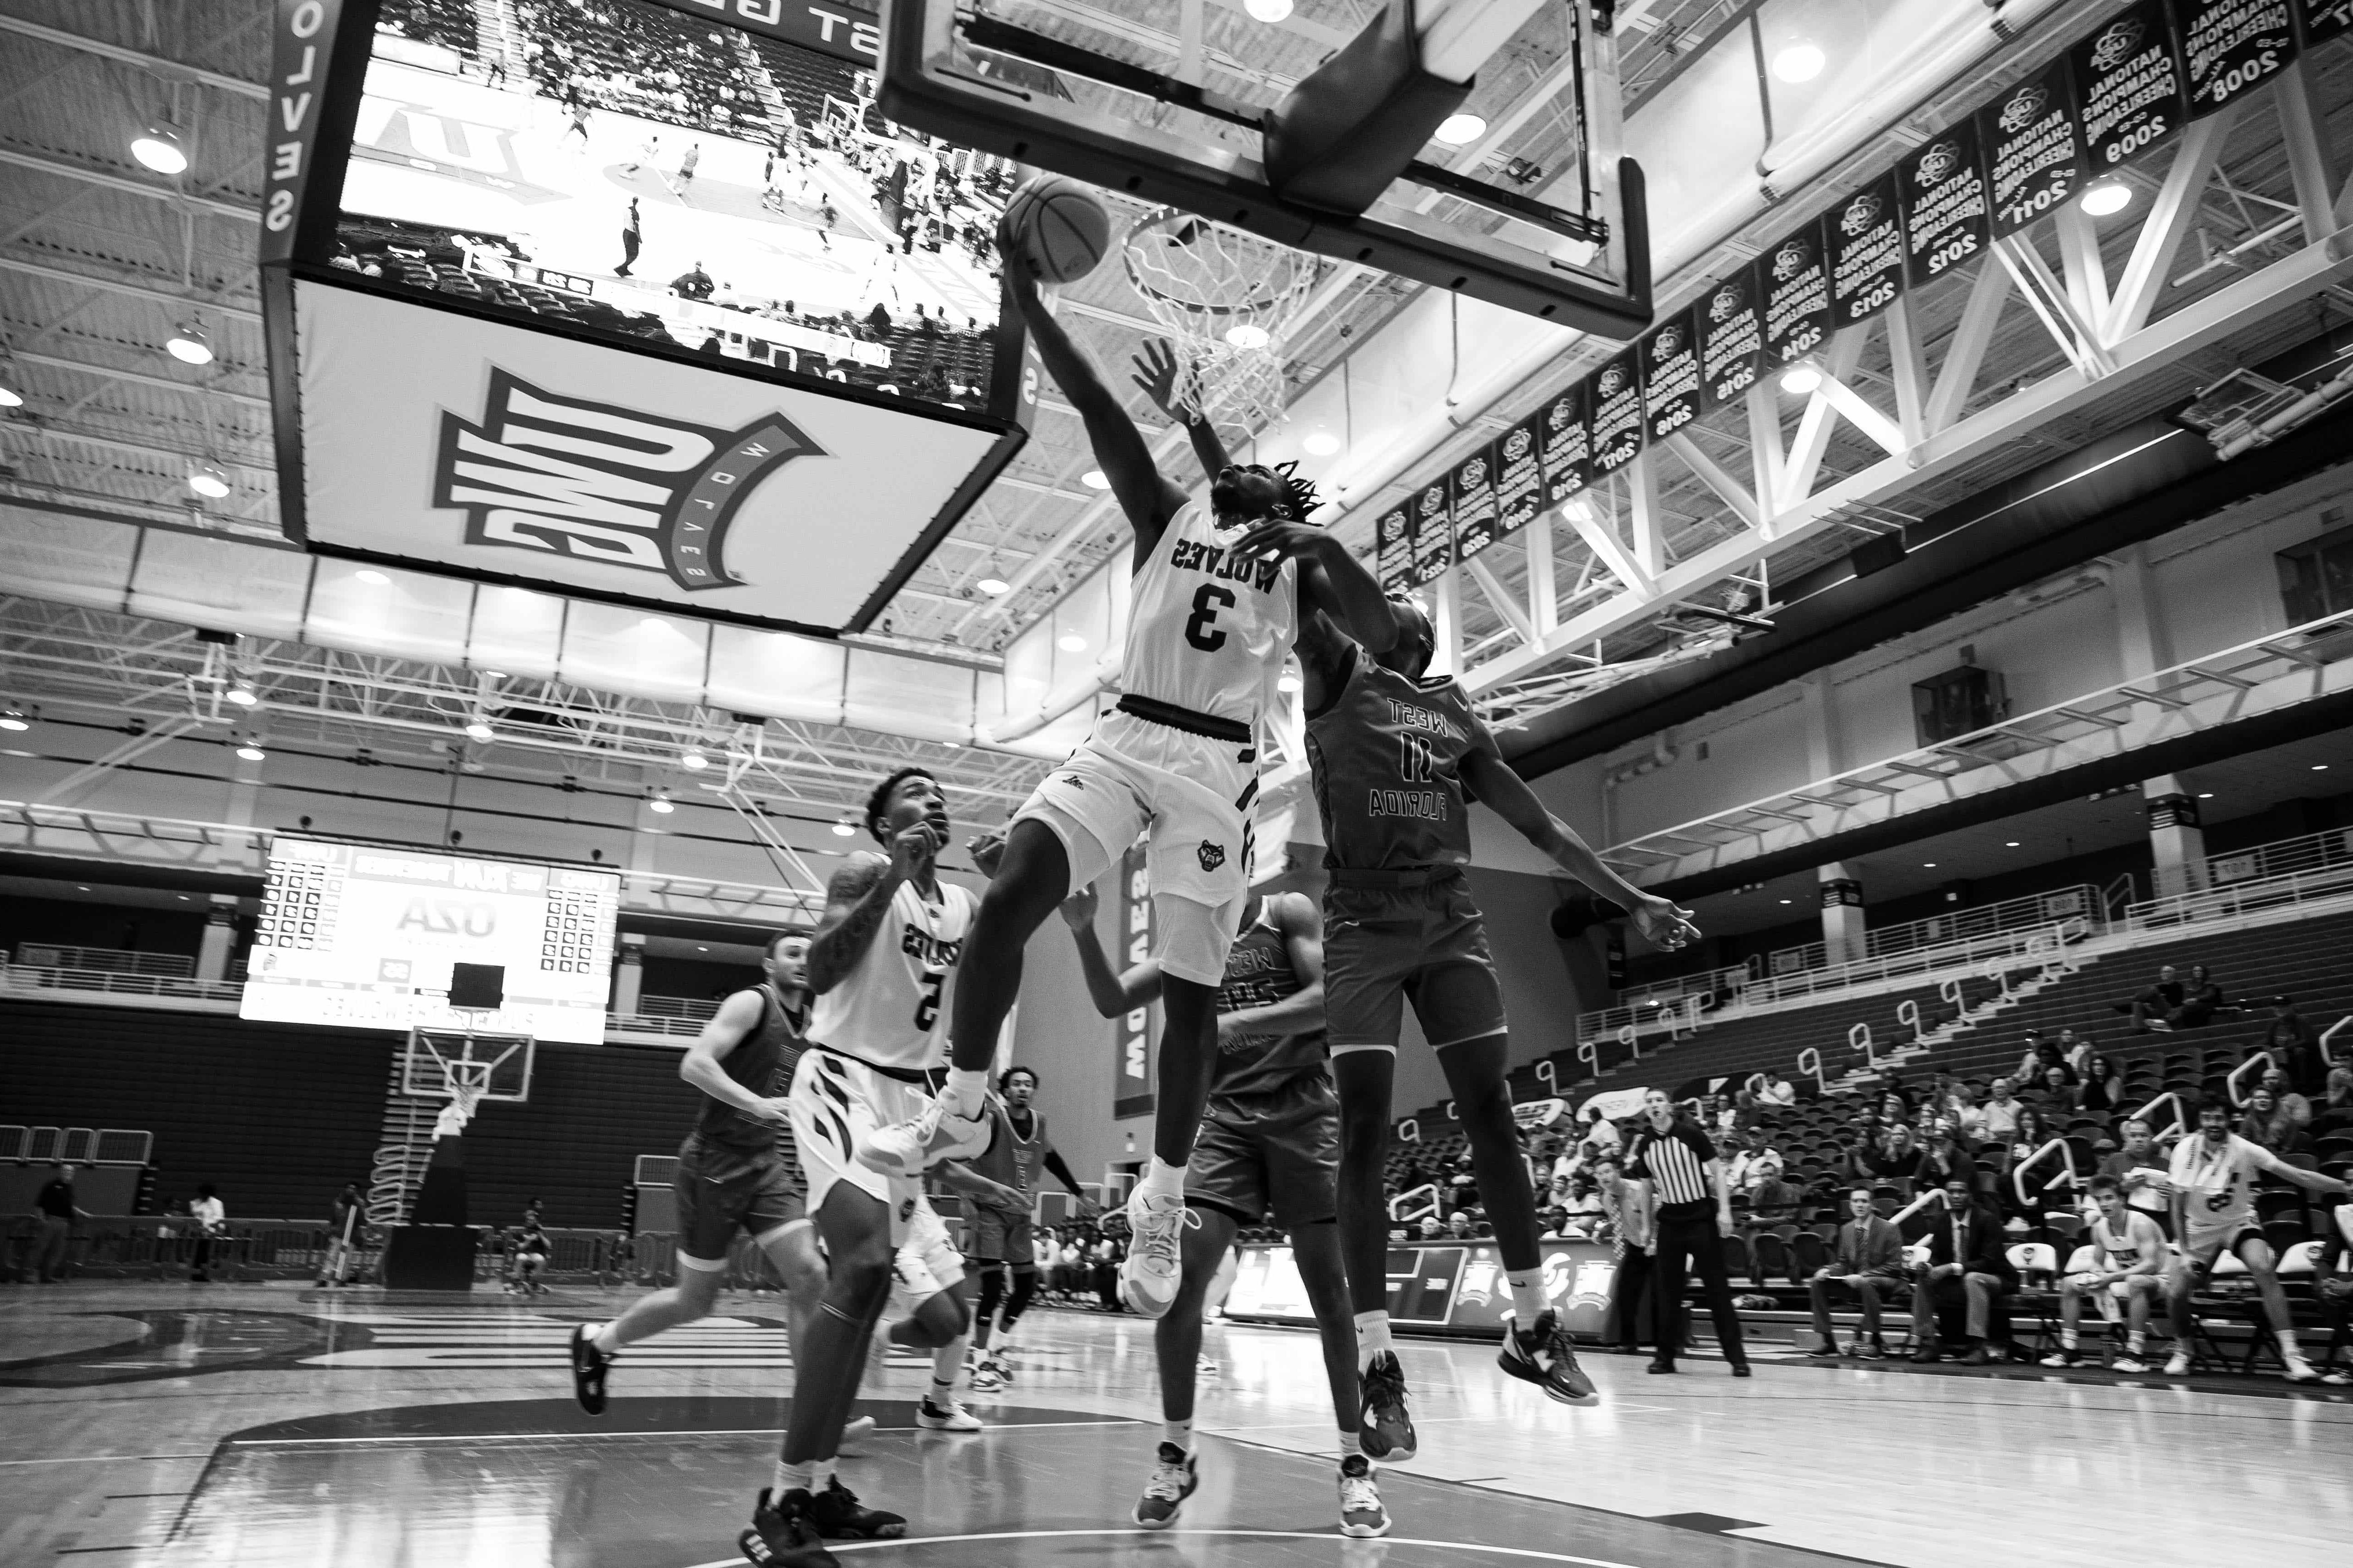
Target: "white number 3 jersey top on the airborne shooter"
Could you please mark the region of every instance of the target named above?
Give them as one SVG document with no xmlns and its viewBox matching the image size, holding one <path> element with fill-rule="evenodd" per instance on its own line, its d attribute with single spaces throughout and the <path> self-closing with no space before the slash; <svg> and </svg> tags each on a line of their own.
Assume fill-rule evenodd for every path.
<svg viewBox="0 0 2353 1568">
<path fill-rule="evenodd" d="M 1249 527 L 1198 503 L 1169 517 L 1134 576 L 1120 691 L 1257 726 L 1299 632 L 1299 564 L 1235 557 Z"/>
</svg>

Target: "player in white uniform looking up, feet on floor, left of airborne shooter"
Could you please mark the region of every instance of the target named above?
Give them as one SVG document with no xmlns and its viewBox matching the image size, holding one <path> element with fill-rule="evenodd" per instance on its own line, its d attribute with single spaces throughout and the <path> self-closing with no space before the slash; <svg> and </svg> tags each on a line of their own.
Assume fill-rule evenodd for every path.
<svg viewBox="0 0 2353 1568">
<path fill-rule="evenodd" d="M 939 846 L 948 811 L 939 783 L 901 769 L 875 785 L 866 830 L 889 853 L 854 853 L 826 886 L 826 914 L 809 943 L 809 1044 L 786 1095 L 809 1215 L 826 1244 L 826 1295 L 807 1345 L 793 1352 L 793 1415 L 774 1486 L 760 1493 L 739 1544 L 791 1547 L 807 1528 L 824 1537 L 878 1540 L 906 1519 L 864 1507 L 833 1474 L 842 1422 L 859 1392 L 866 1345 L 892 1291 L 901 1241 L 929 1201 L 913 1178 L 856 1161 L 878 1126 L 920 1117 L 932 1072 L 946 1056 L 946 990 L 965 952 L 974 898 L 944 884 Z"/>
</svg>

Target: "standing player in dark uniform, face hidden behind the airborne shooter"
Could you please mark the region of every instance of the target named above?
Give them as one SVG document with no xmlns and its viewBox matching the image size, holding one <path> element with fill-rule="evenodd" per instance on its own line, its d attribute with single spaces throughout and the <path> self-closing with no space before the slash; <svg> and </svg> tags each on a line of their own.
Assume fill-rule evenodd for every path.
<svg viewBox="0 0 2353 1568">
<path fill-rule="evenodd" d="M 1078 940 L 1087 994 L 1104 1018 L 1160 997 L 1160 964 L 1113 973 L 1094 940 L 1094 889 L 1061 914 Z M 1242 933 L 1226 952 L 1217 990 L 1217 1070 L 1209 1107 L 1186 1166 L 1186 1227 L 1176 1298 L 1153 1324 L 1160 1361 L 1162 1436 L 1153 1479 L 1136 1500 L 1136 1523 L 1165 1530 L 1200 1483 L 1193 1453 L 1193 1378 L 1200 1363 L 1200 1307 L 1242 1225 L 1268 1213 L 1292 1234 L 1299 1284 L 1315 1312 L 1332 1410 L 1339 1422 L 1341 1535 L 1386 1535 L 1388 1512 L 1358 1436 L 1355 1333 L 1341 1267 L 1332 1175 L 1339 1164 L 1339 1103 L 1325 1056 L 1322 929 L 1299 893 L 1252 893 Z"/>
</svg>

